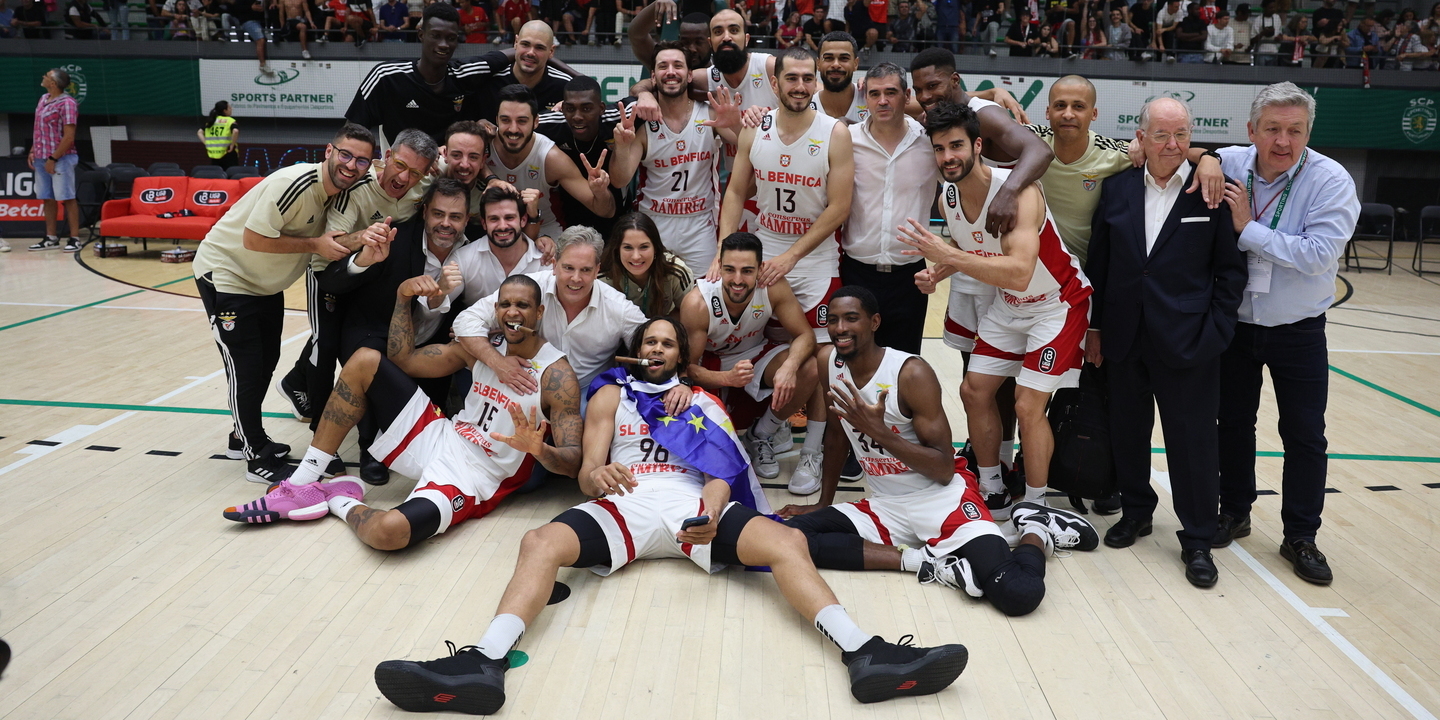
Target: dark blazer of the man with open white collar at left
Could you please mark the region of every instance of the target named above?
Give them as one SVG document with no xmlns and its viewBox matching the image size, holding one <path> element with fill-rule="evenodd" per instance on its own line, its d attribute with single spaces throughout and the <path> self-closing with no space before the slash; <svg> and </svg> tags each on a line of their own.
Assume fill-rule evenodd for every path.
<svg viewBox="0 0 1440 720">
<path fill-rule="evenodd" d="M 395 312 L 395 292 L 402 282 L 425 274 L 423 213 L 416 213 L 415 217 L 395 228 L 390 255 L 383 262 L 350 274 L 350 258 L 346 258 L 331 262 L 320 275 L 320 291 L 325 295 L 334 295 L 334 302 L 340 310 L 340 353 L 343 359 L 348 357 L 357 347 L 373 347 L 384 351 L 386 338 L 390 336 L 390 315 Z M 454 320 L 454 310 L 452 301 L 452 312 L 446 315 L 445 321 L 441 321 L 435 336 L 415 338 L 416 346 L 446 337 L 449 321 Z"/>
</svg>

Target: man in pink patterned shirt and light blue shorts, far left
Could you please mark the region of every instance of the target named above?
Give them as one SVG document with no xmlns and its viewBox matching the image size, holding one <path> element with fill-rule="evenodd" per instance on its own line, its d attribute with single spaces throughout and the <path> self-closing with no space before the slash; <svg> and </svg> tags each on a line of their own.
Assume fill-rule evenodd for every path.
<svg viewBox="0 0 1440 720">
<path fill-rule="evenodd" d="M 45 202 L 45 238 L 32 245 L 32 251 L 49 251 L 60 246 L 55 235 L 55 219 L 59 203 L 65 203 L 65 219 L 71 223 L 71 238 L 65 252 L 81 249 L 81 209 L 75 202 L 75 166 L 81 156 L 75 151 L 75 125 L 79 122 L 79 104 L 71 94 L 71 73 L 55 68 L 40 79 L 45 95 L 35 107 L 35 127 L 29 164 L 35 170 L 35 196 Z"/>
</svg>

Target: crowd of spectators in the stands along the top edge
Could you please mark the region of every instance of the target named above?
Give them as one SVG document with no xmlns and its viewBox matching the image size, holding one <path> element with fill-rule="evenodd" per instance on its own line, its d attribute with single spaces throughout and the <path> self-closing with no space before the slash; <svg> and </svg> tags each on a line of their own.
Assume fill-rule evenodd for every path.
<svg viewBox="0 0 1440 720">
<path fill-rule="evenodd" d="M 423 7 L 449 0 L 0 0 L 0 37 L 317 42 L 413 42 Z M 668 1 L 668 0 L 661 0 Z M 467 43 L 508 43 L 527 20 L 544 20 L 560 45 L 621 45 L 647 0 L 454 0 Z M 681 0 L 677 14 L 733 6 L 757 46 L 804 45 L 847 30 L 861 52 L 966 53 L 1224 65 L 1436 69 L 1440 1 L 1374 12 L 1322 0 Z M 1306 3 L 1313 4 L 1313 3 Z M 134 14 L 144 17 L 141 26 Z M 255 32 L 246 24 L 255 23 Z M 59 35 L 59 33 L 56 33 Z M 308 50 L 307 50 L 308 55 Z"/>
</svg>

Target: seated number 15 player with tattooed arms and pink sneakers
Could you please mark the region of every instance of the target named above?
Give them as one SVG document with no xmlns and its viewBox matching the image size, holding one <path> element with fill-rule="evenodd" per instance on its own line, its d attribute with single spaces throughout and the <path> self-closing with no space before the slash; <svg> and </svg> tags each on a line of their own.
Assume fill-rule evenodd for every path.
<svg viewBox="0 0 1440 720">
<path fill-rule="evenodd" d="M 580 468 L 580 392 L 564 354 L 528 330 L 540 327 L 544 314 L 540 285 L 526 275 L 511 275 L 501 284 L 495 325 L 503 331 L 488 341 L 500 353 L 530 361 L 540 392 L 528 395 L 513 393 L 462 346 L 480 338 L 415 347 L 410 304 L 439 291 L 429 275 L 400 285 L 387 357 L 369 347 L 356 350 L 340 370 L 300 467 L 265 497 L 226 508 L 226 520 L 315 520 L 328 511 L 370 547 L 399 550 L 464 520 L 484 517 L 530 480 L 537 461 L 559 475 L 575 475 Z M 475 380 L 465 395 L 465 409 L 451 420 L 412 376 L 446 377 L 465 366 L 471 366 Z M 416 478 L 415 491 L 393 510 L 364 505 L 359 482 L 318 482 L 366 408 L 380 425 L 370 452 L 390 469 Z M 544 442 L 547 420 L 554 423 L 554 445 Z"/>
</svg>

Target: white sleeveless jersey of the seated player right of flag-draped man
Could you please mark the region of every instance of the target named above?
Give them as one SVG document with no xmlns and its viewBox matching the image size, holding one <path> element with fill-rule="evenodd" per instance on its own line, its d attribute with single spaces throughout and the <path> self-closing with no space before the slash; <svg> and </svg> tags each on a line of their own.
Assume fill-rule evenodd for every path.
<svg viewBox="0 0 1440 720">
<path fill-rule="evenodd" d="M 914 433 L 914 422 L 900 415 L 900 367 L 912 357 L 916 356 L 887 347 L 886 359 L 880 361 L 880 367 L 876 369 L 876 374 L 870 377 L 870 382 L 860 387 L 860 395 L 865 403 L 874 405 L 881 390 L 890 390 L 890 395 L 886 396 L 886 425 L 896 435 L 919 444 L 920 439 Z M 829 363 L 829 384 L 831 387 L 842 386 L 841 380 L 845 379 L 855 382 L 850 374 L 850 366 L 835 353 Z M 845 428 L 845 438 L 850 439 L 850 446 L 855 451 L 855 459 L 860 461 L 860 467 L 865 468 L 865 475 L 870 477 L 870 494 L 873 497 L 907 495 L 937 485 L 936 481 L 910 469 L 909 465 L 891 456 L 880 444 L 857 431 L 850 420 L 841 419 L 840 422 Z"/>
</svg>

